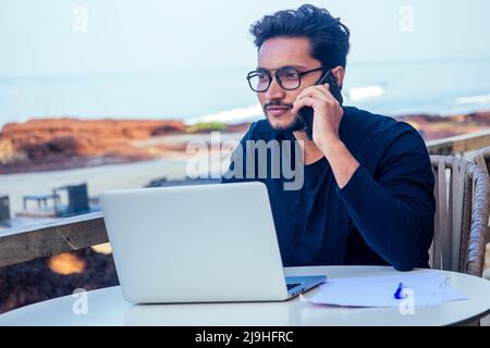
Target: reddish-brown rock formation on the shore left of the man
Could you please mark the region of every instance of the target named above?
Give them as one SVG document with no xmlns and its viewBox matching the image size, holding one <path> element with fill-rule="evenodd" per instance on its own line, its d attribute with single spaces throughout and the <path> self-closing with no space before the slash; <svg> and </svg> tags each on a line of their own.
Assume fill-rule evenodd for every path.
<svg viewBox="0 0 490 348">
<path fill-rule="evenodd" d="M 0 144 L 10 154 L 0 154 L 1 173 L 25 171 L 27 166 L 49 167 L 59 162 L 77 159 L 94 163 L 125 162 L 152 158 L 144 148 L 132 146 L 156 135 L 185 132 L 180 121 L 44 119 L 25 123 L 5 124 L 0 132 Z M 3 151 L 5 152 L 5 151 Z M 82 165 L 83 166 L 83 165 Z"/>
</svg>

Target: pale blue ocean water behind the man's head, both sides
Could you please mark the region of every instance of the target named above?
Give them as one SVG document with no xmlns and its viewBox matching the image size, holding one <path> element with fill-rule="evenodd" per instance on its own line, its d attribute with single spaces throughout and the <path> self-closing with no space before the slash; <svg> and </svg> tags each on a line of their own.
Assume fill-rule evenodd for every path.
<svg viewBox="0 0 490 348">
<path fill-rule="evenodd" d="M 32 117 L 262 117 L 250 69 L 189 69 L 83 76 L 0 76 L 0 126 Z M 350 62 L 345 104 L 371 112 L 457 114 L 490 110 L 490 60 Z"/>
</svg>

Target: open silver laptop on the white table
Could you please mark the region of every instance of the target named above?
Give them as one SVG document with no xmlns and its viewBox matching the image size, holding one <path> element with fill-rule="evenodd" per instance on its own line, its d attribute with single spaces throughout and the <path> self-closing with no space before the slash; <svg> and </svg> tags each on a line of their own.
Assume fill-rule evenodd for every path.
<svg viewBox="0 0 490 348">
<path fill-rule="evenodd" d="M 130 302 L 285 300 L 326 279 L 284 277 L 262 183 L 112 190 L 101 203 Z"/>
</svg>

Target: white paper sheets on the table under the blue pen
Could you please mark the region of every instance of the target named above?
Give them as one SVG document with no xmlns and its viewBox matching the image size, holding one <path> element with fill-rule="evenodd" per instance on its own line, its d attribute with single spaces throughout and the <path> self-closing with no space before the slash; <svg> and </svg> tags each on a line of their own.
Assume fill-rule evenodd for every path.
<svg viewBox="0 0 490 348">
<path fill-rule="evenodd" d="M 443 273 L 430 272 L 328 279 L 308 301 L 343 307 L 399 307 L 404 300 L 394 297 L 400 283 L 403 283 L 405 300 L 413 301 L 414 306 L 467 299 L 446 284 Z"/>
</svg>

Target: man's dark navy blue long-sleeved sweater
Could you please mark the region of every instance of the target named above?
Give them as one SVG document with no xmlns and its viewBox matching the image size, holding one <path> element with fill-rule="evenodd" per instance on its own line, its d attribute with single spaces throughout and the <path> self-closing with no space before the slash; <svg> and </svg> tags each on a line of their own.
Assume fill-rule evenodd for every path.
<svg viewBox="0 0 490 348">
<path fill-rule="evenodd" d="M 284 266 L 390 264 L 400 271 L 428 268 L 433 236 L 433 173 L 426 145 L 411 125 L 391 117 L 344 107 L 340 137 L 360 163 L 340 189 L 326 158 L 304 166 L 304 185 L 285 190 L 291 177 L 267 175 L 222 178 L 222 183 L 260 181 L 266 184 Z M 246 140 L 295 140 L 274 132 L 266 120 L 252 124 Z M 281 148 L 281 154 L 284 154 Z M 294 146 L 290 158 L 294 159 Z M 235 152 L 228 175 L 237 173 L 247 151 Z M 282 158 L 282 157 L 281 157 Z M 264 158 L 261 159 L 264 161 Z M 264 163 L 261 163 L 264 164 Z M 248 164 L 250 166 L 250 164 Z"/>
</svg>

